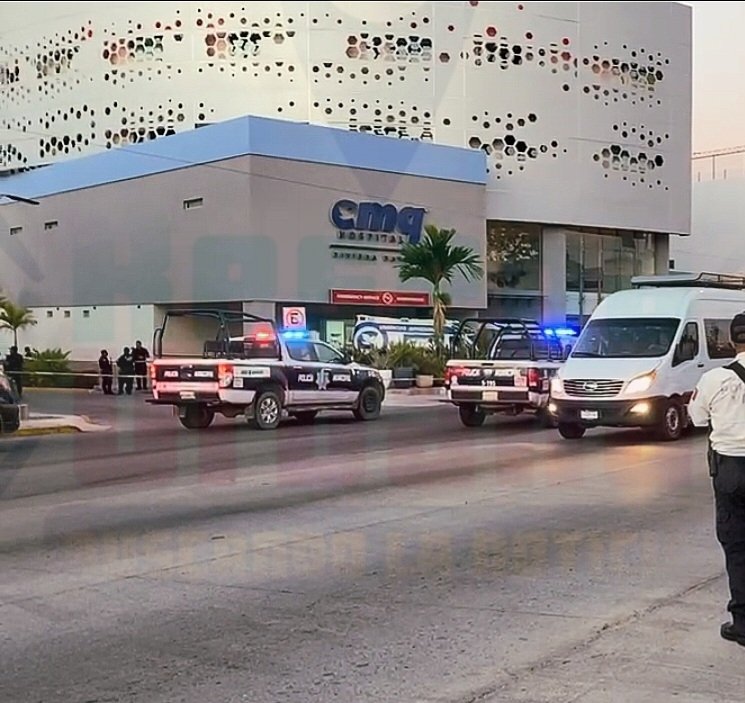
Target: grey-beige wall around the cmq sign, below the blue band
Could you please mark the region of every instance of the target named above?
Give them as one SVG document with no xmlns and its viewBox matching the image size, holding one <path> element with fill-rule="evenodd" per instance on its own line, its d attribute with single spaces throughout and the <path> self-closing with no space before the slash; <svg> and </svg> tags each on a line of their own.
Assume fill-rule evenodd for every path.
<svg viewBox="0 0 745 703">
<path fill-rule="evenodd" d="M 202 206 L 184 209 L 184 201 Z M 339 261 L 329 219 L 339 199 L 427 209 L 485 256 L 483 185 L 267 157 L 241 157 L 0 207 L 3 286 L 29 306 L 302 300 L 331 288 L 403 285 L 390 263 Z M 54 221 L 57 226 L 45 228 Z M 10 227 L 22 231 L 9 236 Z M 453 287 L 484 307 L 484 281 Z"/>
</svg>

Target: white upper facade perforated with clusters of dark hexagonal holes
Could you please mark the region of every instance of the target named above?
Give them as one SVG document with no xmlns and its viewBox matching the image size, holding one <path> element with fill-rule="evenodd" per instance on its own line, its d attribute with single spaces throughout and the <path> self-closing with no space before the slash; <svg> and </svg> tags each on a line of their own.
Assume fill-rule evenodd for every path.
<svg viewBox="0 0 745 703">
<path fill-rule="evenodd" d="M 255 114 L 482 149 L 490 218 L 690 229 L 679 3 L 7 2 L 0 27 L 0 171 Z"/>
</svg>

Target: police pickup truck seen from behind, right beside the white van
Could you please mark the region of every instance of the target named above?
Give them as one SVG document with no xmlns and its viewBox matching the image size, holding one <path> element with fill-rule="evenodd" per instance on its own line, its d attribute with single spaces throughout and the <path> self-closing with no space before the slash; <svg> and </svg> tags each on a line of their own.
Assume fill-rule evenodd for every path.
<svg viewBox="0 0 745 703">
<path fill-rule="evenodd" d="M 445 402 L 457 406 L 466 427 L 479 427 L 487 415 L 535 413 L 546 427 L 550 382 L 571 347 L 570 329 L 545 329 L 535 320 L 469 318 L 451 345 L 455 357 L 445 368 Z"/>
</svg>

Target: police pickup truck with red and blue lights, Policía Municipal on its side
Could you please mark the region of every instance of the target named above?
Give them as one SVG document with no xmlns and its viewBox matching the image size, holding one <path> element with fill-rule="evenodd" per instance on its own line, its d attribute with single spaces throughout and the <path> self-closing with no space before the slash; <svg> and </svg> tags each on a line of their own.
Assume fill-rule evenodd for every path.
<svg viewBox="0 0 745 703">
<path fill-rule="evenodd" d="M 164 350 L 164 333 L 174 319 L 181 344 L 192 340 L 188 354 Z M 208 327 L 216 329 L 214 337 L 195 334 Z M 195 339 L 201 354 L 193 348 Z M 247 313 L 169 310 L 155 331 L 153 351 L 147 402 L 173 406 L 190 430 L 209 427 L 217 413 L 244 417 L 262 430 L 275 429 L 284 415 L 307 423 L 329 410 L 375 420 L 385 397 L 375 369 L 352 363 L 324 342 L 282 335 L 271 320 Z"/>
</svg>

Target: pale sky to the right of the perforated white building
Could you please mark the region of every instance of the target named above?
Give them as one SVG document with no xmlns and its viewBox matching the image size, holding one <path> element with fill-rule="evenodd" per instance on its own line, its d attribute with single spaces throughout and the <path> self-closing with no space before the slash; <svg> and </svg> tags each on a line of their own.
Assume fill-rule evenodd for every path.
<svg viewBox="0 0 745 703">
<path fill-rule="evenodd" d="M 745 3 L 693 7 L 693 151 L 745 146 Z"/>
</svg>

